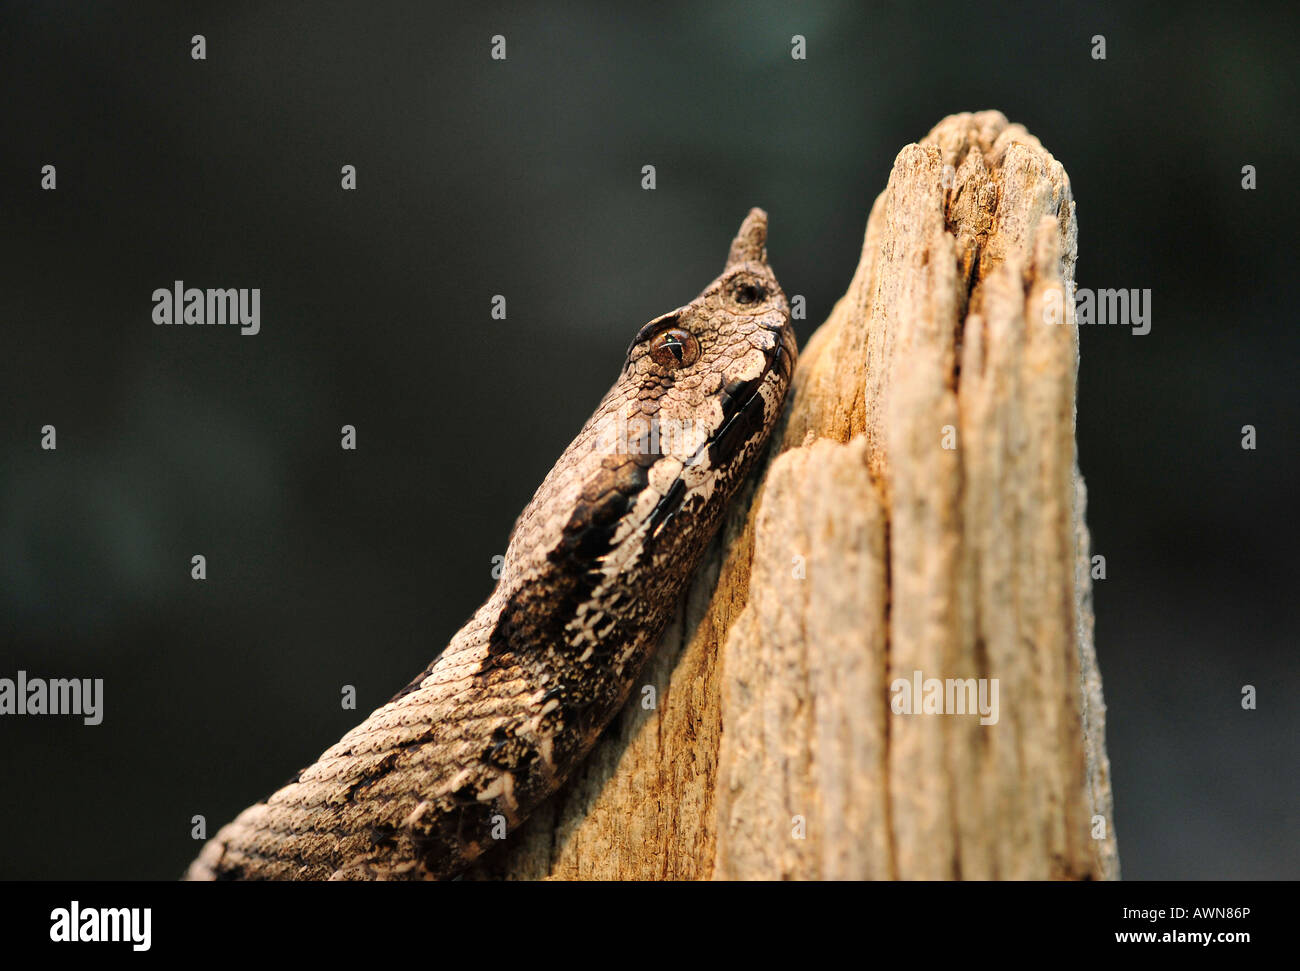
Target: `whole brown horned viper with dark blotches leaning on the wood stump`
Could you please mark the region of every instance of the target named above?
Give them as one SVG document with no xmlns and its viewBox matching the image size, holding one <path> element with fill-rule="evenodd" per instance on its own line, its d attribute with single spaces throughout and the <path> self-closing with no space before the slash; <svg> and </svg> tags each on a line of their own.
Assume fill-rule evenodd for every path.
<svg viewBox="0 0 1300 971">
<path fill-rule="evenodd" d="M 766 242 L 753 209 L 722 274 L 640 329 L 437 659 L 186 879 L 450 877 L 555 792 L 627 701 L 784 406 L 796 343 Z"/>
</svg>

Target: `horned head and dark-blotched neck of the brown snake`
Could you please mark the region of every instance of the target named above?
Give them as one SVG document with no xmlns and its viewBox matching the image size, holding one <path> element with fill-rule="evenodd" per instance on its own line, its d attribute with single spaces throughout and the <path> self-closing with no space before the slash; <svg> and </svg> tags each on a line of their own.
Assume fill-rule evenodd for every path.
<svg viewBox="0 0 1300 971">
<path fill-rule="evenodd" d="M 621 608 L 607 594 L 597 610 L 599 590 L 698 562 L 776 425 L 794 369 L 790 308 L 766 242 L 767 214 L 753 209 L 723 272 L 637 331 L 618 381 L 511 534 L 500 651 L 568 624 L 593 643 L 616 641 L 597 617 Z M 644 606 L 660 589 L 670 588 L 636 599 Z"/>
</svg>

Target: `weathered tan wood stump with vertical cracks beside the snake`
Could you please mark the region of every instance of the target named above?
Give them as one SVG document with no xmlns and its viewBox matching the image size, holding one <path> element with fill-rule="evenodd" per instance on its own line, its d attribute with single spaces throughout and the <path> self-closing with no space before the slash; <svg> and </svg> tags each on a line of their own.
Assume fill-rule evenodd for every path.
<svg viewBox="0 0 1300 971">
<path fill-rule="evenodd" d="M 1075 239 L 1065 169 L 998 112 L 898 153 L 762 478 L 644 675 L 654 707 L 633 692 L 472 876 L 1118 876 Z M 997 720 L 897 711 L 928 679 L 972 680 L 945 711 L 996 697 Z"/>
</svg>

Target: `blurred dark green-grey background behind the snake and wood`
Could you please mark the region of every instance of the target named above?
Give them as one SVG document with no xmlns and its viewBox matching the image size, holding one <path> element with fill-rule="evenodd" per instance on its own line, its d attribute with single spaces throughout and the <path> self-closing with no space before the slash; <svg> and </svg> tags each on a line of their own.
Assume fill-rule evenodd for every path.
<svg viewBox="0 0 1300 971">
<path fill-rule="evenodd" d="M 1084 329 L 1079 385 L 1124 876 L 1300 876 L 1284 6 L 117 6 L 0 9 L 0 676 L 107 682 L 98 728 L 0 721 L 0 876 L 179 875 L 192 814 L 311 762 L 488 595 L 750 205 L 803 341 L 898 149 L 982 108 L 1070 173 L 1079 285 L 1153 291 L 1148 335 Z M 261 287 L 261 334 L 156 328 L 174 279 Z"/>
</svg>

